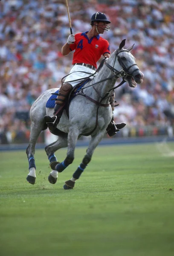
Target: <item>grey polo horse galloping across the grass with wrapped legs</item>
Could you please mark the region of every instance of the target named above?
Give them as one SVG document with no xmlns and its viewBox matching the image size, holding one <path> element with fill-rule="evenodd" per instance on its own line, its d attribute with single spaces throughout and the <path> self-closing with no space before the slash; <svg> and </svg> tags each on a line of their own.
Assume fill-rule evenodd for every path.
<svg viewBox="0 0 174 256">
<path fill-rule="evenodd" d="M 106 128 L 112 119 L 112 109 L 109 104 L 110 95 L 113 92 L 116 80 L 122 77 L 129 86 L 136 87 L 136 83 L 142 83 L 143 74 L 139 70 L 135 58 L 131 54 L 133 46 L 124 49 L 125 39 L 107 58 L 103 67 L 91 81 L 82 87 L 69 105 L 69 117 L 64 110 L 61 120 L 57 125 L 60 134 L 58 140 L 45 147 L 52 171 L 48 180 L 55 184 L 58 172 L 62 172 L 74 160 L 75 145 L 81 135 L 91 136 L 86 154 L 75 170 L 73 177 L 64 184 L 64 189 L 73 189 L 75 180 L 90 162 L 93 152 L 106 133 Z M 46 102 L 58 88 L 46 90 L 32 105 L 30 110 L 31 134 L 26 154 L 29 161 L 29 174 L 26 180 L 34 184 L 36 179 L 35 144 L 41 131 L 46 129 L 44 116 L 52 116 L 53 109 L 46 108 Z M 55 151 L 67 147 L 67 157 L 61 163 L 55 157 Z"/>
</svg>

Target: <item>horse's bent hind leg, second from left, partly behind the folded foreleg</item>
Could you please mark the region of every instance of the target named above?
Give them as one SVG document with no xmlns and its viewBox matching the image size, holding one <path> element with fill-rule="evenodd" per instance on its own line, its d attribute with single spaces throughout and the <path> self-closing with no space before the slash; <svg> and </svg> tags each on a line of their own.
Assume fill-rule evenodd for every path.
<svg viewBox="0 0 174 256">
<path fill-rule="evenodd" d="M 49 159 L 49 165 L 52 169 L 48 176 L 49 183 L 55 184 L 58 178 L 58 171 L 56 170 L 56 166 L 59 164 L 59 162 L 54 153 L 60 148 L 67 147 L 67 145 L 67 137 L 64 136 L 58 137 L 58 140 L 45 147 L 45 151 Z"/>
</svg>

